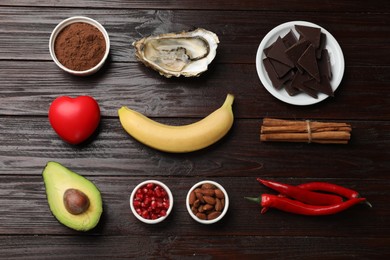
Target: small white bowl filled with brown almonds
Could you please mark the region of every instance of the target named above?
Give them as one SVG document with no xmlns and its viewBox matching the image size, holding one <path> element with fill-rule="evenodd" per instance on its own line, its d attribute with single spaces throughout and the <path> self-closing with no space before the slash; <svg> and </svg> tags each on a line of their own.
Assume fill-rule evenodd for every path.
<svg viewBox="0 0 390 260">
<path fill-rule="evenodd" d="M 225 216 L 229 197 L 219 183 L 205 180 L 196 183 L 188 191 L 186 204 L 194 220 L 201 224 L 213 224 Z"/>
</svg>

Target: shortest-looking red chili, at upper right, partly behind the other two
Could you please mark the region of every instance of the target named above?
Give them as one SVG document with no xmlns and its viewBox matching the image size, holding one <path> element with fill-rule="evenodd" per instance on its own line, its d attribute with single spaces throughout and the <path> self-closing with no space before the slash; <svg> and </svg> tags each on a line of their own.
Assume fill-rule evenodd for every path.
<svg viewBox="0 0 390 260">
<path fill-rule="evenodd" d="M 328 182 L 308 182 L 297 186 L 298 188 L 310 191 L 325 191 L 335 193 L 348 199 L 360 198 L 357 191 Z"/>
</svg>

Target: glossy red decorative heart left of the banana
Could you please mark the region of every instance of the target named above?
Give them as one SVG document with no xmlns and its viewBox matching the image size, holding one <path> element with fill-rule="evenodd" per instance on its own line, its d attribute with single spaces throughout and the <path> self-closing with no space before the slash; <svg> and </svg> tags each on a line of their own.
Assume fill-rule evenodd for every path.
<svg viewBox="0 0 390 260">
<path fill-rule="evenodd" d="M 100 121 L 100 108 L 90 96 L 56 98 L 49 108 L 49 121 L 65 141 L 79 144 L 90 137 Z"/>
</svg>

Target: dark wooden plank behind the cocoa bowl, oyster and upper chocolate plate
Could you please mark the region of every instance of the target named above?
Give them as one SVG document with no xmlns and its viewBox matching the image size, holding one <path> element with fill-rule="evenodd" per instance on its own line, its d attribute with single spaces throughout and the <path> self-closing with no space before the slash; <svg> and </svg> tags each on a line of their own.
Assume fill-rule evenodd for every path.
<svg viewBox="0 0 390 260">
<path fill-rule="evenodd" d="M 131 43 L 144 36 L 201 27 L 215 32 L 220 38 L 216 63 L 253 64 L 263 37 L 275 26 L 294 20 L 317 23 L 328 30 L 341 45 L 347 65 L 388 65 L 390 56 L 390 50 L 386 48 L 390 34 L 387 13 L 365 13 L 364 23 L 361 13 L 206 11 L 202 13 L 202 19 L 198 19 L 198 11 L 191 10 L 119 9 L 107 12 L 93 8 L 4 7 L 0 14 L 1 59 L 51 60 L 50 33 L 60 21 L 76 15 L 94 18 L 106 28 L 113 61 L 135 62 Z"/>
</svg>

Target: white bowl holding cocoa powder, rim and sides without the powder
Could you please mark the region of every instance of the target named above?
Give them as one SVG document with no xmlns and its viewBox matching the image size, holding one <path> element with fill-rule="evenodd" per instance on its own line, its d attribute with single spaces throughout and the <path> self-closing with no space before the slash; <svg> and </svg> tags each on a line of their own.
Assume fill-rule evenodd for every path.
<svg viewBox="0 0 390 260">
<path fill-rule="evenodd" d="M 104 39 L 106 40 L 106 51 L 104 53 L 104 56 L 102 58 L 102 60 L 93 68 L 90 68 L 88 70 L 84 70 L 84 71 L 77 71 L 77 70 L 71 70 L 67 67 L 65 67 L 64 65 L 62 65 L 57 57 L 56 57 L 56 54 L 55 54 L 55 51 L 54 51 L 54 43 L 55 43 L 55 40 L 58 36 L 58 34 L 68 25 L 72 24 L 72 23 L 77 23 L 77 22 L 82 22 L 82 23 L 88 23 L 88 24 L 91 24 L 93 26 L 95 26 L 97 29 L 99 29 L 99 31 L 103 34 L 104 36 Z M 77 75 L 77 76 L 88 76 L 88 75 L 91 75 L 95 72 L 97 72 L 98 70 L 101 69 L 101 67 L 103 67 L 103 64 L 104 62 L 106 61 L 107 57 L 108 57 L 108 53 L 110 52 L 110 38 L 108 36 L 108 33 L 106 31 L 106 29 L 104 29 L 104 27 L 97 21 L 91 19 L 91 18 L 88 18 L 88 17 L 84 17 L 84 16 L 73 16 L 73 17 L 70 17 L 68 19 L 65 19 L 63 20 L 62 22 L 60 22 L 53 30 L 53 32 L 51 33 L 50 35 L 50 40 L 49 40 L 49 51 L 50 51 L 50 55 L 53 59 L 53 61 L 57 64 L 58 67 L 60 67 L 62 70 L 70 73 L 70 74 L 73 74 L 73 75 Z"/>
</svg>

